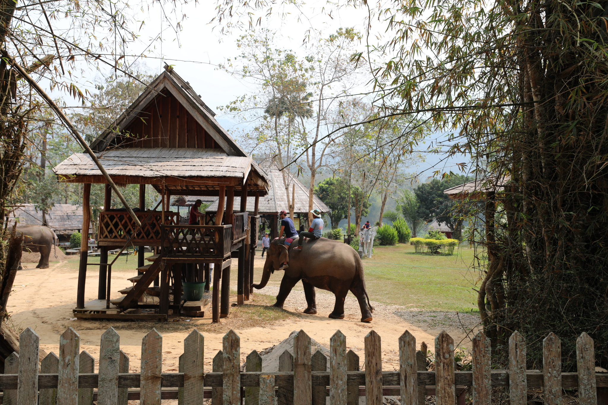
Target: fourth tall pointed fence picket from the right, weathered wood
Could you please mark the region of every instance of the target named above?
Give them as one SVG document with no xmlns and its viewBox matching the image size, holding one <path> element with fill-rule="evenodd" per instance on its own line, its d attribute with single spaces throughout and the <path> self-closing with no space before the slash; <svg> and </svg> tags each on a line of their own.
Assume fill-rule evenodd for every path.
<svg viewBox="0 0 608 405">
<path fill-rule="evenodd" d="M 477 333 L 473 338 L 473 405 L 491 405 L 491 350 L 488 336 Z"/>
</svg>

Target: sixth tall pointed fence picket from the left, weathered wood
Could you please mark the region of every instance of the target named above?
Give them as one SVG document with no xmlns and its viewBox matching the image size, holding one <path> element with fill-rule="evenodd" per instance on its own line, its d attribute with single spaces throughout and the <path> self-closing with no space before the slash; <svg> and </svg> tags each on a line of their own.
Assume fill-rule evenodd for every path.
<svg viewBox="0 0 608 405">
<path fill-rule="evenodd" d="M 224 404 L 241 404 L 241 338 L 230 329 L 222 339 Z"/>
</svg>

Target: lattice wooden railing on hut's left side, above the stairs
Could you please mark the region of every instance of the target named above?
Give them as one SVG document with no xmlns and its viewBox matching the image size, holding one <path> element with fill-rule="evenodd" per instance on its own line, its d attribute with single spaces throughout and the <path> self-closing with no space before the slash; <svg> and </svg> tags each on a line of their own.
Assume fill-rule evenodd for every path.
<svg viewBox="0 0 608 405">
<path fill-rule="evenodd" d="M 136 245 L 146 243 L 148 246 L 159 246 L 161 243 L 162 211 L 141 211 L 135 213 L 142 223 L 132 242 Z M 178 213 L 165 212 L 165 225 L 176 225 Z M 125 211 L 103 211 L 99 214 L 98 242 L 100 245 L 120 245 L 136 230 L 133 218 Z M 122 243 L 121 243 L 122 242 Z"/>
</svg>

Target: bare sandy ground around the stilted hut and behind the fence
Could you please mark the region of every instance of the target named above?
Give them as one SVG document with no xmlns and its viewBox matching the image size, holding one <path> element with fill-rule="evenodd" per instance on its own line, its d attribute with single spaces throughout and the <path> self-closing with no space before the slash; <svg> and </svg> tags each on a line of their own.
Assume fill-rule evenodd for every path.
<svg viewBox="0 0 608 405">
<path fill-rule="evenodd" d="M 256 256 L 255 267 L 262 266 L 262 259 L 260 256 Z M 117 291 L 130 285 L 126 278 L 135 274 L 136 270 L 113 271 L 112 290 Z M 99 339 L 107 326 L 100 325 L 99 321 L 71 320 L 71 310 L 75 307 L 77 276 L 78 271 L 74 270 L 74 265 L 68 265 L 67 262 L 52 263 L 50 268 L 43 270 L 36 269 L 35 265 L 28 265 L 28 268 L 19 271 L 16 276 L 14 292 L 10 296 L 8 305 L 8 310 L 12 312 L 10 319 L 17 330 L 26 327 L 33 328 L 40 336 L 41 348 L 46 352 L 56 354 L 58 353 L 59 335 L 67 327 L 74 327 L 81 337 L 81 350 L 86 350 L 94 358 L 98 358 Z M 271 280 L 280 281 L 280 277 L 280 274 L 275 273 Z M 89 268 L 86 279 L 87 301 L 97 298 L 97 280 L 97 268 Z M 234 288 L 236 289 L 236 285 Z M 278 287 L 268 285 L 257 291 L 275 295 Z M 114 295 L 120 296 L 117 292 Z M 236 297 L 232 297 L 232 301 L 235 302 L 235 300 Z M 293 330 L 300 329 L 305 330 L 316 341 L 326 346 L 329 345 L 331 336 L 339 329 L 347 336 L 348 348 L 358 353 L 361 366 L 364 363 L 364 338 L 373 329 L 382 338 L 382 368 L 384 370 L 398 369 L 398 338 L 405 330 L 409 330 L 415 336 L 418 347 L 420 347 L 420 342 L 425 341 L 431 351 L 434 351 L 434 337 L 441 329 L 448 330 L 454 337 L 455 343 L 458 344 L 464 339 L 462 344 L 468 345 L 462 328 L 449 318 L 447 318 L 447 322 L 429 324 L 428 319 L 434 318 L 428 318 L 425 321 L 422 311 L 372 302 L 376 308 L 373 314 L 374 319 L 370 324 L 365 324 L 359 321 L 361 319 L 359 305 L 352 294 L 349 294 L 346 300 L 345 319 L 327 318 L 333 309 L 333 304 L 332 294 L 317 290 L 318 315 L 302 314 L 301 312 L 306 306 L 304 294 L 301 288 L 294 289 L 285 303 L 285 309 L 294 312 L 294 316 L 277 321 L 267 327 L 244 328 L 236 331 L 241 338 L 241 361 L 244 361 L 246 355 L 252 350 L 260 351 L 271 347 L 287 338 Z M 210 315 L 210 313 L 206 315 Z M 437 316 L 435 315 L 435 317 Z M 165 330 L 164 332 L 162 325 L 158 323 L 120 322 L 117 332 L 120 335 L 121 348 L 130 358 L 131 372 L 139 371 L 142 337 L 155 326 L 159 327 L 163 335 L 163 371 L 177 372 L 178 357 L 183 352 L 184 338 L 197 325 L 210 324 L 209 316 L 187 319 L 190 319 L 190 322 L 187 323 L 185 320 L 179 322 L 183 325 L 182 330 Z M 470 319 L 469 321 L 468 327 L 465 328 L 474 326 L 471 323 L 473 321 Z M 224 333 L 204 332 L 203 334 L 206 371 L 211 371 L 212 358 L 218 350 L 221 350 Z"/>
</svg>

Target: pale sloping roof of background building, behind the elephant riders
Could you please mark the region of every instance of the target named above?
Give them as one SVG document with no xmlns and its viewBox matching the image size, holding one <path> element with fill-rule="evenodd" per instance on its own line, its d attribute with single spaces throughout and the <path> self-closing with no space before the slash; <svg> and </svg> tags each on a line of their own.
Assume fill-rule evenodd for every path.
<svg viewBox="0 0 608 405">
<path fill-rule="evenodd" d="M 268 194 L 264 197 L 260 197 L 258 212 L 260 214 L 277 214 L 282 209 L 288 210 L 287 196 L 285 192 L 285 186 L 283 185 L 283 175 L 278 169 L 271 169 L 268 171 L 270 177 L 270 189 Z M 290 185 L 289 185 L 289 198 L 291 199 L 292 185 L 295 185 L 295 214 L 306 214 L 308 213 L 308 188 L 300 182 L 293 174 L 289 173 Z M 190 202 L 190 198 L 186 199 Z M 194 198 L 193 200 L 196 200 Z M 193 202 L 192 202 L 193 203 Z M 226 205 L 224 205 L 226 206 Z M 241 206 L 241 197 L 235 197 L 234 199 L 235 209 L 239 209 Z M 255 207 L 255 197 L 247 197 L 247 212 L 253 212 Z M 322 213 L 328 213 L 331 209 L 325 205 L 319 199 L 319 197 L 313 197 L 313 207 L 318 208 Z M 218 210 L 218 199 L 208 206 L 205 211 L 215 213 Z"/>
</svg>

